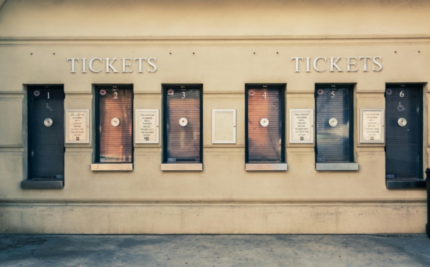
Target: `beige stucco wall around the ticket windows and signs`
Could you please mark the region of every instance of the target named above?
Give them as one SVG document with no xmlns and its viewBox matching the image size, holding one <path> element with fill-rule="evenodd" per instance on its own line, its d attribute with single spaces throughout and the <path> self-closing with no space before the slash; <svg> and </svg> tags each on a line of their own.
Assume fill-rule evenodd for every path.
<svg viewBox="0 0 430 267">
<path fill-rule="evenodd" d="M 423 232 L 425 191 L 386 189 L 384 146 L 358 143 L 358 111 L 385 108 L 385 83 L 423 83 L 427 92 L 428 10 L 429 1 L 400 0 L 6 1 L 0 11 L 0 231 L 315 233 L 318 224 L 317 232 L 327 233 Z M 359 71 L 346 71 L 345 57 L 364 56 L 382 57 L 382 71 L 369 64 L 363 72 L 361 61 Z M 133 73 L 81 73 L 79 62 L 71 73 L 66 59 L 72 57 L 118 58 L 119 70 L 122 57 L 156 57 L 158 70 L 138 73 L 134 65 Z M 342 57 L 344 72 L 306 73 L 301 62 L 296 73 L 291 57 Z M 330 68 L 323 61 L 318 66 Z M 91 172 L 91 141 L 66 145 L 64 189 L 21 189 L 25 85 L 63 84 L 66 109 L 93 109 L 93 85 L 101 83 L 133 84 L 135 109 L 162 109 L 163 83 L 202 83 L 204 170 L 161 172 L 160 143 L 134 146 L 132 172 Z M 286 84 L 287 172 L 245 172 L 245 83 Z M 314 108 L 315 83 L 354 83 L 358 172 L 317 172 L 314 145 L 288 143 L 289 109 Z M 236 144 L 211 143 L 211 109 L 237 110 Z M 274 205 L 262 205 L 267 201 Z M 306 203 L 306 215 L 297 201 Z M 76 212 L 69 213 L 66 203 Z M 100 203 L 109 204 L 102 211 Z M 187 203 L 186 211 L 178 211 L 180 203 Z M 154 215 L 158 208 L 163 215 Z M 278 217 L 263 220 L 262 210 Z M 79 223 L 115 213 L 139 216 L 108 220 L 103 230 Z M 168 219 L 169 213 L 180 215 Z M 201 213 L 207 216 L 193 219 Z M 328 222 L 335 218 L 334 227 Z M 398 223 L 387 227 L 394 219 Z M 251 221 L 260 223 L 248 227 Z M 146 226 L 136 228 L 136 222 Z"/>
</svg>

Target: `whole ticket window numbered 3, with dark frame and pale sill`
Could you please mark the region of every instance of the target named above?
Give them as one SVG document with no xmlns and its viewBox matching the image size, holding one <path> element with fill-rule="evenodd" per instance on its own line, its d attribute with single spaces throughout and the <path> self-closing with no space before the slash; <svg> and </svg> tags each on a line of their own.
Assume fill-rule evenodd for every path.
<svg viewBox="0 0 430 267">
<path fill-rule="evenodd" d="M 162 170 L 202 170 L 202 86 L 164 85 L 163 118 Z"/>
</svg>

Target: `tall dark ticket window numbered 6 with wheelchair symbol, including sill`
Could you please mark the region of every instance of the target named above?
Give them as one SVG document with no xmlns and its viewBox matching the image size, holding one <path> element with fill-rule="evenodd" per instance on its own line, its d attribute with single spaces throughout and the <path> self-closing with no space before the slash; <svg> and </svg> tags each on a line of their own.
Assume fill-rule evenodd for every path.
<svg viewBox="0 0 430 267">
<path fill-rule="evenodd" d="M 385 185 L 424 188 L 422 85 L 385 88 Z"/>
</svg>

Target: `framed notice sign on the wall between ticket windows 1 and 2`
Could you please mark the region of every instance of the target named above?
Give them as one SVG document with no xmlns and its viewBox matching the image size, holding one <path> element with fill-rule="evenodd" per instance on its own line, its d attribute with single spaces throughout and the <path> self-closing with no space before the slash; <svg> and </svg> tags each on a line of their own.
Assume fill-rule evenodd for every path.
<svg viewBox="0 0 430 267">
<path fill-rule="evenodd" d="M 90 143 L 90 109 L 66 109 L 66 143 Z"/>
</svg>

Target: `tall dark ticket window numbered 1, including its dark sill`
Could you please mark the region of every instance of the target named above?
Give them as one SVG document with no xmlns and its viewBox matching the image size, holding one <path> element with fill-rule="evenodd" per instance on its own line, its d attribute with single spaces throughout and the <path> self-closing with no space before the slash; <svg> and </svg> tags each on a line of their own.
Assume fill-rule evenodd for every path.
<svg viewBox="0 0 430 267">
<path fill-rule="evenodd" d="M 28 87 L 28 179 L 23 189 L 64 187 L 63 86 Z"/>
</svg>

